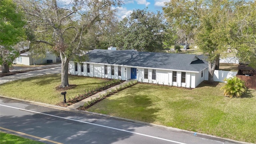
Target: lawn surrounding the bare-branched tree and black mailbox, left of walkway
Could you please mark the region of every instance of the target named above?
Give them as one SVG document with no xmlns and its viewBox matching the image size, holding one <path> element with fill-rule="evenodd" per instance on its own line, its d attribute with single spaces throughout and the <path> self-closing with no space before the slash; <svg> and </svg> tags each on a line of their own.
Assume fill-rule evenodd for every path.
<svg viewBox="0 0 256 144">
<path fill-rule="evenodd" d="M 55 89 L 56 86 L 60 85 L 60 78 L 60 74 L 50 74 L 8 82 L 0 85 L 0 95 L 46 104 L 57 104 L 63 102 L 63 95 L 60 94 L 62 91 Z M 74 98 L 83 94 L 85 90 L 95 88 L 109 81 L 107 79 L 73 75 L 69 75 L 68 79 L 69 84 L 76 84 L 76 88 L 65 90 L 67 92 L 66 99 Z"/>
</svg>

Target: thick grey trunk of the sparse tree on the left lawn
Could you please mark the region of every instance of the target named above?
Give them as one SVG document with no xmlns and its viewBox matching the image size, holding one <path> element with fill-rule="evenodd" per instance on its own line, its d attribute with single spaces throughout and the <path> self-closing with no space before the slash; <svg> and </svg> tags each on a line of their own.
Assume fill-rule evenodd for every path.
<svg viewBox="0 0 256 144">
<path fill-rule="evenodd" d="M 61 58 L 61 84 L 60 87 L 68 87 L 68 63 L 69 59 L 66 58 L 61 52 L 60 52 L 60 58 Z"/>
</svg>

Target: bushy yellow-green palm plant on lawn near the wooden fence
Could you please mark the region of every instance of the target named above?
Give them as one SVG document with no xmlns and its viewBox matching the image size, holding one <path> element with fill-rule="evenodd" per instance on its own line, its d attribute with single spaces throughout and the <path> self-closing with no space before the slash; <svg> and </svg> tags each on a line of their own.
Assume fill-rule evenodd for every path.
<svg viewBox="0 0 256 144">
<path fill-rule="evenodd" d="M 240 80 L 238 77 L 225 78 L 227 84 L 222 86 L 220 89 L 224 90 L 224 96 L 232 97 L 241 97 L 242 94 L 246 92 L 246 86 L 243 80 Z"/>
</svg>

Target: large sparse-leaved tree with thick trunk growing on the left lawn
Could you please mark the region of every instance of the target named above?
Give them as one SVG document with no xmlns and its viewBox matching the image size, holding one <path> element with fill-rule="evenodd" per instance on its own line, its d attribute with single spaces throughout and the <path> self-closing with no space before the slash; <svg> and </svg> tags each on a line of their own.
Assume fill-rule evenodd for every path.
<svg viewBox="0 0 256 144">
<path fill-rule="evenodd" d="M 84 36 L 95 24 L 108 23 L 120 0 L 18 0 L 34 30 L 33 47 L 58 52 L 62 62 L 60 87 L 69 86 L 68 63 L 86 46 Z"/>
</svg>

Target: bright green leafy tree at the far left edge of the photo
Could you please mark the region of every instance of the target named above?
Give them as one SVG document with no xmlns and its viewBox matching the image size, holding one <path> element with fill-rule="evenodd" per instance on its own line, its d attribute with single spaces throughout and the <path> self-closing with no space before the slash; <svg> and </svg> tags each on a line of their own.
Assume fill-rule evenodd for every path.
<svg viewBox="0 0 256 144">
<path fill-rule="evenodd" d="M 25 38 L 23 14 L 12 0 L 0 0 L 0 64 L 2 73 L 8 73 L 9 66 L 19 56 L 14 46 Z"/>
</svg>

